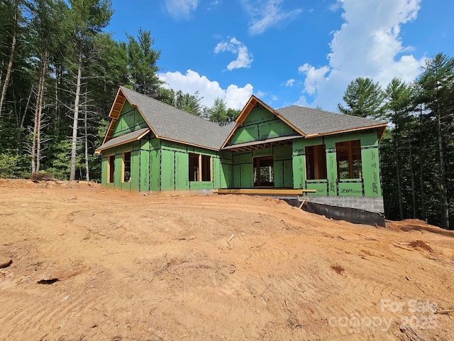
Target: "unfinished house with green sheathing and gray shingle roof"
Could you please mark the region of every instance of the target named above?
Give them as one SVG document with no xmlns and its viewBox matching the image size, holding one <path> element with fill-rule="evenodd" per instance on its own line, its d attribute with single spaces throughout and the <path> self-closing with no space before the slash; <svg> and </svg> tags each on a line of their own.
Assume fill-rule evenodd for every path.
<svg viewBox="0 0 454 341">
<path fill-rule="evenodd" d="M 252 96 L 235 122 L 218 126 L 126 87 L 109 117 L 96 149 L 106 188 L 304 193 L 309 210 L 384 212 L 378 146 L 384 121 L 272 109 Z"/>
</svg>

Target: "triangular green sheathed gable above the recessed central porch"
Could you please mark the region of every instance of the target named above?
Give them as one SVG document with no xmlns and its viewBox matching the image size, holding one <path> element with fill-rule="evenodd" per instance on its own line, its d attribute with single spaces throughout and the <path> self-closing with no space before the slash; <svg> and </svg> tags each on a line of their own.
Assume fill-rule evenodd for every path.
<svg viewBox="0 0 454 341">
<path fill-rule="evenodd" d="M 298 134 L 292 127 L 277 118 L 264 107 L 253 109 L 243 124 L 236 129 L 228 145 L 271 139 L 279 136 Z"/>
</svg>

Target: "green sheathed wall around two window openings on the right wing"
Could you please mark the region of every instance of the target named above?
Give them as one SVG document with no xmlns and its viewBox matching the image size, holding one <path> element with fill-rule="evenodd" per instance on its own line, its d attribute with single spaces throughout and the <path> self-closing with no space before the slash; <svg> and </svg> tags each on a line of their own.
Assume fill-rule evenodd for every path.
<svg viewBox="0 0 454 341">
<path fill-rule="evenodd" d="M 338 179 L 336 161 L 336 143 L 343 141 L 361 141 L 362 179 Z M 327 179 L 306 180 L 306 146 L 326 145 Z M 377 129 L 319 137 L 316 139 L 295 139 L 292 147 L 293 186 L 317 190 L 308 195 L 340 196 L 382 196 L 380 186 L 380 163 L 378 153 Z"/>
</svg>

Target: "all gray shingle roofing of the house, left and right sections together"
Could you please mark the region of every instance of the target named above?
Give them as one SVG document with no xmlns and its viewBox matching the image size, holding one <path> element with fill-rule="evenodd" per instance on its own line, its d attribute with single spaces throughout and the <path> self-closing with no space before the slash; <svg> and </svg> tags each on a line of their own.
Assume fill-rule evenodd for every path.
<svg viewBox="0 0 454 341">
<path fill-rule="evenodd" d="M 226 126 L 218 126 L 216 123 L 196 117 L 126 87 L 121 87 L 121 91 L 128 102 L 139 109 L 150 128 L 161 139 L 219 150 L 236 126 L 236 122 Z M 335 114 L 296 105 L 277 109 L 276 112 L 307 136 L 382 126 L 387 123 L 386 121 Z M 127 135 L 118 138 L 126 139 L 128 138 Z M 114 142 L 115 144 L 121 143 L 123 140 L 118 140 L 118 142 L 118 138 L 108 141 L 98 149 L 108 148 L 107 144 L 110 145 Z"/>
</svg>

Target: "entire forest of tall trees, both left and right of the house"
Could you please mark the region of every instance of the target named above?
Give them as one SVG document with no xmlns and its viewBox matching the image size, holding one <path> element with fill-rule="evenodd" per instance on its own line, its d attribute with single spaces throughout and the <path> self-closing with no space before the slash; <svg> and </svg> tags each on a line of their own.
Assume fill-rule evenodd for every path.
<svg viewBox="0 0 454 341">
<path fill-rule="evenodd" d="M 150 31 L 116 41 L 110 0 L 0 0 L 0 177 L 49 173 L 99 180 L 101 144 L 119 85 L 218 124 L 238 116 L 218 98 L 175 92 L 158 77 Z M 411 83 L 350 82 L 340 112 L 385 119 L 380 144 L 389 219 L 452 227 L 454 60 L 429 58 Z"/>
</svg>

